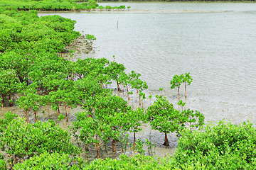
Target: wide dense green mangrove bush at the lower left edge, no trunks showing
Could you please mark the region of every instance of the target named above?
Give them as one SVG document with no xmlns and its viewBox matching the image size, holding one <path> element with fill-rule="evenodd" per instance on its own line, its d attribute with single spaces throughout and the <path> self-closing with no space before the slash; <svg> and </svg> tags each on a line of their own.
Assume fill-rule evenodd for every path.
<svg viewBox="0 0 256 170">
<path fill-rule="evenodd" d="M 80 150 L 70 142 L 68 132 L 52 122 L 27 124 L 23 118 L 12 120 L 1 136 L 2 145 L 6 144 L 6 153 L 23 158 L 33 157 L 43 152 L 58 152 L 70 155 Z"/>
</svg>

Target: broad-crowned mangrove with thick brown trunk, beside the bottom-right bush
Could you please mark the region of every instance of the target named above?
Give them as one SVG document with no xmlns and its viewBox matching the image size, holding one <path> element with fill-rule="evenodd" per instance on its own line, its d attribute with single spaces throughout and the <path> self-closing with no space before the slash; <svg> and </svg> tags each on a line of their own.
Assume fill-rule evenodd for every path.
<svg viewBox="0 0 256 170">
<path fill-rule="evenodd" d="M 176 110 L 172 103 L 166 97 L 156 96 L 157 100 L 146 109 L 145 118 L 154 130 L 164 132 L 165 140 L 163 145 L 169 146 L 167 134 L 170 132 L 180 133 L 182 130 L 189 128 L 199 128 L 204 125 L 204 115 L 191 109 Z M 184 106 L 182 101 L 179 105 Z"/>
</svg>

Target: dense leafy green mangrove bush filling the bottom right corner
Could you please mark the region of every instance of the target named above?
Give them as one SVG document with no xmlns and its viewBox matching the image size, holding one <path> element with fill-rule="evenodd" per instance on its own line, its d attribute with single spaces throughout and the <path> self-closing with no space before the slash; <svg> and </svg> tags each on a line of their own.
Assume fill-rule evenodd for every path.
<svg viewBox="0 0 256 170">
<path fill-rule="evenodd" d="M 200 131 L 186 130 L 178 141 L 177 166 L 205 169 L 254 169 L 256 131 L 252 123 L 234 125 L 220 121 Z"/>
</svg>

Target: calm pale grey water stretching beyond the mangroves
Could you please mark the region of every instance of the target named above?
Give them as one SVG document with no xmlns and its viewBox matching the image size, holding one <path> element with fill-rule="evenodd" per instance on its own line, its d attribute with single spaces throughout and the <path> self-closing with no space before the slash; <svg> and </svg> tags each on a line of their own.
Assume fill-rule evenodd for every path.
<svg viewBox="0 0 256 170">
<path fill-rule="evenodd" d="M 81 57 L 112 60 L 115 55 L 127 72 L 142 74 L 149 85 L 147 95 L 164 88 L 164 96 L 172 103 L 178 101 L 178 92 L 169 89 L 169 81 L 174 74 L 191 72 L 188 108 L 201 111 L 213 122 L 225 118 L 256 123 L 256 4 L 100 5 L 122 4 L 148 12 L 58 13 L 77 21 L 75 30 L 97 38 L 95 53 Z M 45 15 L 53 13 L 39 14 Z"/>
</svg>

